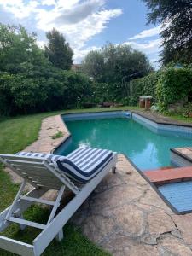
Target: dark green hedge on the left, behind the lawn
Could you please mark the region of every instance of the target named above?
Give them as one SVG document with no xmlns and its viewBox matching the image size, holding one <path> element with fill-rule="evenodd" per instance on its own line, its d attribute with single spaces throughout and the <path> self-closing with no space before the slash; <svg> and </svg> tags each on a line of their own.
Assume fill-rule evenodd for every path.
<svg viewBox="0 0 192 256">
<path fill-rule="evenodd" d="M 0 116 L 79 108 L 92 96 L 84 74 L 53 67 L 0 73 Z"/>
</svg>

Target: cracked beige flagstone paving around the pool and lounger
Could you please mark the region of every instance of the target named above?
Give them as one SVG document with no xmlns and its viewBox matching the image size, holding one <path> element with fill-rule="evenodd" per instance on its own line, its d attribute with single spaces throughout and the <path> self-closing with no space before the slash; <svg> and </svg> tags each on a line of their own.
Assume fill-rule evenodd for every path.
<svg viewBox="0 0 192 256">
<path fill-rule="evenodd" d="M 57 122 L 59 116 L 44 119 L 38 141 L 24 150 L 48 153 L 61 143 L 68 131 Z M 63 137 L 53 142 L 58 129 Z M 112 255 L 192 255 L 192 214 L 174 214 L 123 154 L 117 172 L 108 173 L 71 221 Z"/>
</svg>

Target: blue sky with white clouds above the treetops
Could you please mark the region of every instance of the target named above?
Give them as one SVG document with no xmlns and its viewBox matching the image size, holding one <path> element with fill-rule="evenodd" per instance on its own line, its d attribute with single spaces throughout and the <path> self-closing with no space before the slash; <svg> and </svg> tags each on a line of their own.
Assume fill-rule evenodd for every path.
<svg viewBox="0 0 192 256">
<path fill-rule="evenodd" d="M 130 44 L 158 67 L 160 26 L 146 25 L 147 12 L 142 0 L 0 0 L 1 23 L 36 32 L 41 47 L 55 27 L 72 47 L 74 63 L 110 42 Z"/>
</svg>

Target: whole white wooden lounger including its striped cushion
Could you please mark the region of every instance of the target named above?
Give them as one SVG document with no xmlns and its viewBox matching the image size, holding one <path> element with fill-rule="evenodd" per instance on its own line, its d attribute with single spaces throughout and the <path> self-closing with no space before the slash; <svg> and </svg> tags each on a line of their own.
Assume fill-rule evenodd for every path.
<svg viewBox="0 0 192 256">
<path fill-rule="evenodd" d="M 78 148 L 67 157 L 20 152 L 16 155 L 0 154 L 0 161 L 23 177 L 12 205 L 0 213 L 0 232 L 11 223 L 20 224 L 21 230 L 26 226 L 42 230 L 32 241 L 32 245 L 0 236 L 0 248 L 19 255 L 38 256 L 55 237 L 61 241 L 62 227 L 68 219 L 108 171 L 115 170 L 117 154 L 98 148 Z M 26 183 L 30 183 L 34 188 L 23 195 Z M 74 197 L 61 212 L 56 213 L 66 187 L 73 192 Z M 41 198 L 49 189 L 58 190 L 55 201 Z M 22 212 L 34 203 L 52 206 L 47 224 L 39 224 L 23 218 Z"/>
</svg>

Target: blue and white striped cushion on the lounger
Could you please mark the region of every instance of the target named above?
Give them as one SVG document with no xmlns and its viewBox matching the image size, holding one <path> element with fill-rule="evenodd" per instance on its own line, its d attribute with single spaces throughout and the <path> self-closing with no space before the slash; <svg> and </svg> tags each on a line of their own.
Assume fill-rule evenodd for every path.
<svg viewBox="0 0 192 256">
<path fill-rule="evenodd" d="M 28 157 L 44 157 L 56 162 L 59 169 L 76 182 L 86 183 L 113 158 L 113 152 L 100 148 L 78 148 L 67 156 L 55 154 L 19 152 L 17 155 Z"/>
</svg>

